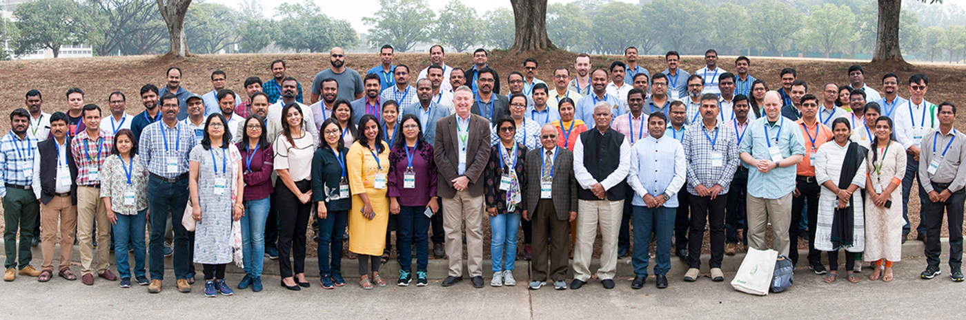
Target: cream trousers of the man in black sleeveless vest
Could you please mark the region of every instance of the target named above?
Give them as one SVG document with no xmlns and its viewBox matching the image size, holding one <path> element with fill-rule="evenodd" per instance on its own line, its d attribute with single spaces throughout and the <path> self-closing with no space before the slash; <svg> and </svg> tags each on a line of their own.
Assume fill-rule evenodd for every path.
<svg viewBox="0 0 966 320">
<path fill-rule="evenodd" d="M 601 267 L 597 269 L 600 280 L 613 279 L 617 270 L 617 232 L 624 214 L 624 200 L 577 200 L 577 244 L 574 248 L 574 279 L 590 279 L 590 257 L 594 251 L 594 239 L 600 228 Z"/>
</svg>

